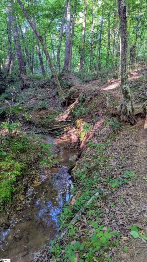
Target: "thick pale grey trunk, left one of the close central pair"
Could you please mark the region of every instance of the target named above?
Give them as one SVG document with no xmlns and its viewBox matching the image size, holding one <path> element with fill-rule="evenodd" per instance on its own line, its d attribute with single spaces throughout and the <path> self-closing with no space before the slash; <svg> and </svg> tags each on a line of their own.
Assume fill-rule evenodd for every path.
<svg viewBox="0 0 147 262">
<path fill-rule="evenodd" d="M 66 25 L 66 43 L 65 43 L 65 59 L 63 65 L 63 72 L 68 72 L 68 65 L 70 59 L 70 26 L 71 26 L 71 0 L 68 2 L 67 8 L 67 25 Z"/>
</svg>

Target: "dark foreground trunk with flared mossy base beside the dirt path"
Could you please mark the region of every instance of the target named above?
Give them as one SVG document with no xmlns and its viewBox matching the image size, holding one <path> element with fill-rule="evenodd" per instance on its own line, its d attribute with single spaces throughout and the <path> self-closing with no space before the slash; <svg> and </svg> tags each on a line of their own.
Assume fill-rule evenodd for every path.
<svg viewBox="0 0 147 262">
<path fill-rule="evenodd" d="M 121 36 L 121 88 L 122 88 L 122 120 L 128 121 L 133 125 L 137 122 L 133 115 L 133 105 L 130 95 L 130 88 L 128 85 L 127 72 L 127 29 L 126 29 L 126 5 L 125 0 L 118 0 L 118 13 L 120 22 L 120 36 Z"/>
</svg>

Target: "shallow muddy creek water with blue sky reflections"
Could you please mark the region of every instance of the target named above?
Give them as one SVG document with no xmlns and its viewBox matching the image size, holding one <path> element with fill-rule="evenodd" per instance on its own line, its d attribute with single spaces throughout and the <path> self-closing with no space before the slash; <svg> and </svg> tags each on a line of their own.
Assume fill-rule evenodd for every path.
<svg viewBox="0 0 147 262">
<path fill-rule="evenodd" d="M 0 233 L 0 258 L 12 262 L 28 262 L 32 253 L 55 236 L 59 227 L 58 216 L 63 204 L 71 198 L 73 186 L 68 166 L 74 162 L 77 150 L 70 142 L 59 141 L 43 135 L 44 143 L 54 143 L 58 168 L 40 170 L 37 186 L 29 188 L 24 209 L 10 219 L 9 227 Z"/>
</svg>

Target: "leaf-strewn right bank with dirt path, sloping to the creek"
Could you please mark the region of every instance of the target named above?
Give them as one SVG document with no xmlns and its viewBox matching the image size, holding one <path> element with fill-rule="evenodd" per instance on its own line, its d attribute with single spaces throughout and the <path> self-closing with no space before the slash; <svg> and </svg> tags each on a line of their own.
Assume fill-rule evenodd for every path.
<svg viewBox="0 0 147 262">
<path fill-rule="evenodd" d="M 139 105 L 141 101 L 137 99 L 146 81 L 143 74 L 144 71 L 132 72 L 129 78 L 134 101 Z M 75 119 L 76 124 L 67 136 L 78 134 L 81 157 L 72 171 L 75 187 L 73 198 L 60 218 L 61 235 L 36 254 L 35 261 L 43 257 L 51 261 L 145 261 L 144 119 L 138 116 L 134 127 L 127 123 L 122 126 L 117 121 L 120 81 L 101 84 L 100 80 L 94 80 L 81 84 L 70 77 L 72 92 L 77 94 L 78 101 L 82 100 L 70 112 L 70 117 L 74 114 L 78 120 Z M 139 83 L 137 93 L 135 86 Z M 65 112 L 63 115 L 67 117 Z"/>
</svg>

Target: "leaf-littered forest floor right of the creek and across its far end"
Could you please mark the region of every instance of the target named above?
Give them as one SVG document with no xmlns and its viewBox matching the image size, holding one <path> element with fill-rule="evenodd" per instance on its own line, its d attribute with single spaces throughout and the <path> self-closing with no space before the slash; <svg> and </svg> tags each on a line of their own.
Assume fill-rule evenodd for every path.
<svg viewBox="0 0 147 262">
<path fill-rule="evenodd" d="M 85 78 L 84 83 L 73 74 L 63 76 L 70 103 L 77 101 L 74 108 L 62 107 L 44 83 L 45 89 L 39 84 L 19 95 L 13 118 L 26 133 L 70 139 L 78 144 L 79 155 L 72 170 L 73 197 L 60 217 L 58 233 L 67 229 L 66 234 L 55 239 L 51 248 L 47 244 L 33 261 L 147 261 L 145 115 L 137 115 L 135 126 L 119 122 L 120 81 L 113 75 Z M 140 104 L 145 100 L 146 70 L 130 72 L 129 85 L 133 103 Z M 87 205 L 96 192 L 99 196 Z M 81 216 L 71 224 L 83 206 Z"/>
</svg>

